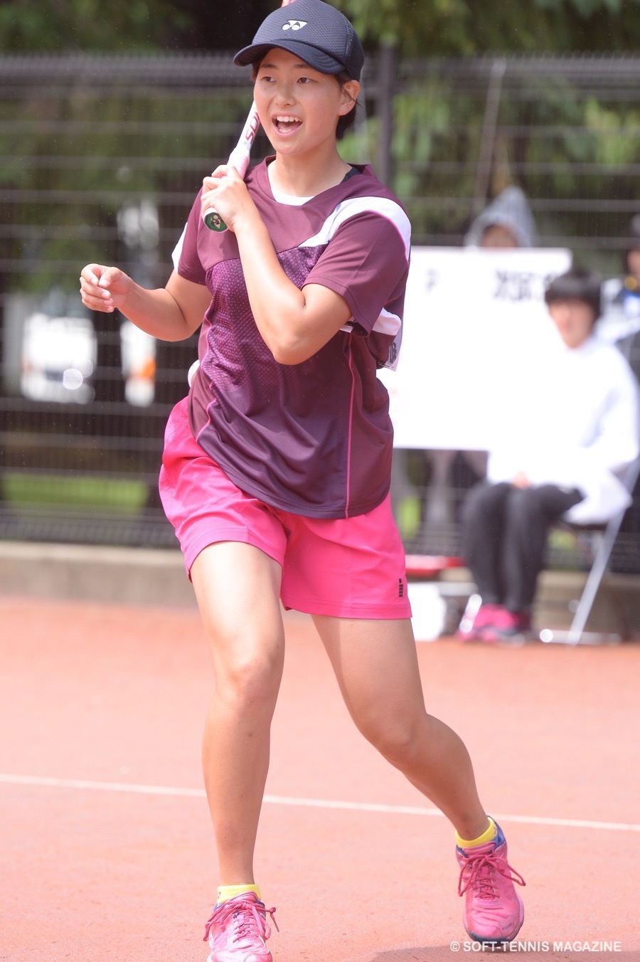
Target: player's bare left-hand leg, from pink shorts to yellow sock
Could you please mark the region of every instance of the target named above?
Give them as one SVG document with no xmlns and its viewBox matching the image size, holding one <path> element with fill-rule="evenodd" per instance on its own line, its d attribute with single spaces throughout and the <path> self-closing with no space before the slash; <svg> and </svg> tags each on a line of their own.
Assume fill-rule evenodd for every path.
<svg viewBox="0 0 640 962">
<path fill-rule="evenodd" d="M 215 694 L 203 767 L 220 882 L 254 882 L 254 848 L 283 672 L 280 566 L 248 544 L 210 545 L 191 580 L 209 636 Z"/>
</svg>

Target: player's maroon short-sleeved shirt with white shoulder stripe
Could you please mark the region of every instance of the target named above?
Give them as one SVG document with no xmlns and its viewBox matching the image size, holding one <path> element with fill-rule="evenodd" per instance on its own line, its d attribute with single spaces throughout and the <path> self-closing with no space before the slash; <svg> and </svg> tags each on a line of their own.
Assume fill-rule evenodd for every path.
<svg viewBox="0 0 640 962">
<path fill-rule="evenodd" d="M 274 507 L 337 519 L 377 507 L 393 430 L 378 367 L 395 367 L 408 270 L 408 219 L 368 166 L 306 203 L 279 203 L 267 162 L 245 178 L 286 275 L 321 284 L 353 314 L 316 354 L 281 365 L 262 341 L 231 231 L 203 223 L 200 195 L 175 259 L 211 303 L 191 385 L 194 436 L 238 488 Z"/>
</svg>

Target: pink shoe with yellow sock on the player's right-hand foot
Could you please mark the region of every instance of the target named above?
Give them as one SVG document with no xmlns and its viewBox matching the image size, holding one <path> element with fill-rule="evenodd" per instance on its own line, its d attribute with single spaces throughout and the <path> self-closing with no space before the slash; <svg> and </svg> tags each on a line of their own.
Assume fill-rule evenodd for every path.
<svg viewBox="0 0 640 962">
<path fill-rule="evenodd" d="M 515 939 L 525 920 L 525 908 L 514 882 L 525 879 L 506 861 L 506 842 L 500 825 L 492 842 L 455 848 L 460 867 L 457 886 L 465 896 L 462 921 L 475 942 L 504 945 Z"/>
</svg>

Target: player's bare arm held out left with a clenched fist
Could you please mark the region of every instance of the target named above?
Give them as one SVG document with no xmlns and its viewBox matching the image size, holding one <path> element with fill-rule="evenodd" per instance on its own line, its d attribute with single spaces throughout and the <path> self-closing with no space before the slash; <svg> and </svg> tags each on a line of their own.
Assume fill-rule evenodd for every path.
<svg viewBox="0 0 640 962">
<path fill-rule="evenodd" d="M 83 267 L 80 292 L 89 310 L 104 314 L 118 310 L 160 341 L 183 341 L 193 334 L 211 299 L 204 285 L 187 281 L 175 271 L 166 287 L 147 291 L 119 267 L 101 264 Z"/>
</svg>

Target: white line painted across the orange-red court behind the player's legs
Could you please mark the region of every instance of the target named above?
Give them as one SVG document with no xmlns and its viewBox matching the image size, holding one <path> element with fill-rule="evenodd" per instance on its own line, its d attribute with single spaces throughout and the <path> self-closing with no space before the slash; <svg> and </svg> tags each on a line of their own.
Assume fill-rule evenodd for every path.
<svg viewBox="0 0 640 962">
<path fill-rule="evenodd" d="M 82 778 L 52 778 L 47 775 L 13 775 L 0 772 L 0 783 L 33 785 L 39 788 L 89 789 L 99 792 L 129 792 L 134 795 L 163 795 L 183 798 L 205 798 L 201 788 L 178 788 L 168 785 L 135 785 L 131 782 L 96 782 Z M 325 798 L 296 798 L 265 795 L 269 805 L 291 805 L 296 808 L 332 808 L 351 812 L 378 812 L 386 815 L 435 815 L 443 818 L 437 808 L 413 805 L 384 805 L 368 801 L 332 801 Z M 499 822 L 519 822 L 526 825 L 556 825 L 561 828 L 594 828 L 605 831 L 640 832 L 640 824 L 622 822 L 591 822 L 587 819 L 553 819 L 537 815 L 495 815 Z"/>
</svg>

